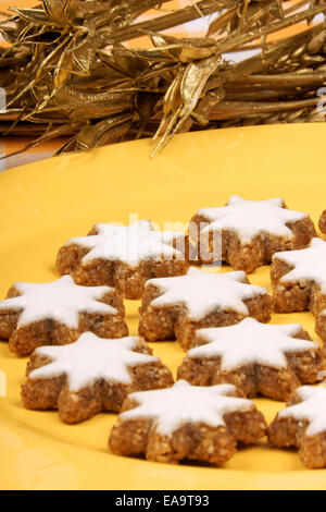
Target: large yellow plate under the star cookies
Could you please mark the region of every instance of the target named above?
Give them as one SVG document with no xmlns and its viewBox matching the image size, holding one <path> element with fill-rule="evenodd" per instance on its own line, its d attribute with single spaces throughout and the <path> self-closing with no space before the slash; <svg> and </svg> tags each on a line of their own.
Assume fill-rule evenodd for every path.
<svg viewBox="0 0 326 512">
<path fill-rule="evenodd" d="M 127 222 L 129 214 L 187 223 L 200 207 L 223 205 L 229 195 L 284 197 L 314 221 L 326 207 L 324 124 L 229 129 L 177 136 L 149 159 L 150 141 L 67 155 L 0 174 L 0 296 L 13 281 L 55 279 L 58 248 L 95 222 Z M 268 267 L 251 281 L 269 288 Z M 137 332 L 138 302 L 127 302 Z M 274 315 L 273 322 L 299 321 L 313 334 L 310 313 Z M 174 370 L 183 359 L 176 342 L 152 343 Z M 223 467 L 167 465 L 109 453 L 114 414 L 64 425 L 57 412 L 22 407 L 20 386 L 26 358 L 0 342 L 7 375 L 0 399 L 1 489 L 326 489 L 326 471 L 305 470 L 292 451 L 260 446 L 240 450 Z M 283 403 L 259 399 L 272 420 Z"/>
</svg>

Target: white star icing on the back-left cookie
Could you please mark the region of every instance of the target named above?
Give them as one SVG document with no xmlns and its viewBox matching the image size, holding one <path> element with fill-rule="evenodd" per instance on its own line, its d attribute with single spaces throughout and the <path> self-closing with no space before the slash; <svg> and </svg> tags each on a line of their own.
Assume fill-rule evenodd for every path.
<svg viewBox="0 0 326 512">
<path fill-rule="evenodd" d="M 154 231 L 149 220 L 140 220 L 130 225 L 113 223 L 96 224 L 98 234 L 78 236 L 65 245 L 77 244 L 90 251 L 82 258 L 82 264 L 93 259 L 121 260 L 131 267 L 148 259 L 184 258 L 183 252 L 173 247 L 176 240 L 184 241 L 185 233 L 174 231 Z"/>
</svg>

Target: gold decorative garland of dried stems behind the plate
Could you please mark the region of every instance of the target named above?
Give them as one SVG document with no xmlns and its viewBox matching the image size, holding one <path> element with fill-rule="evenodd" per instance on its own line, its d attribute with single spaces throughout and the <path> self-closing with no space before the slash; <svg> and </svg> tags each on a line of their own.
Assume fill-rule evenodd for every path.
<svg viewBox="0 0 326 512">
<path fill-rule="evenodd" d="M 166 1 L 43 0 L 3 14 L 1 133 L 33 134 L 33 145 L 68 136 L 60 153 L 153 136 L 154 154 L 177 132 L 325 121 L 326 24 L 312 22 L 326 0 L 190 0 L 159 12 Z M 137 22 L 150 9 L 160 15 Z M 162 33 L 213 13 L 205 37 Z M 124 45 L 139 36 L 147 48 Z M 256 52 L 229 60 L 246 49 Z"/>
</svg>

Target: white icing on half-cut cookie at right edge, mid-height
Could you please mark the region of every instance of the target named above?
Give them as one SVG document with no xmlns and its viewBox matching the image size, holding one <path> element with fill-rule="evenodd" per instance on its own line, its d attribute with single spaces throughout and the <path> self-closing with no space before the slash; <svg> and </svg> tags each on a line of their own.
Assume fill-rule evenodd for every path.
<svg viewBox="0 0 326 512">
<path fill-rule="evenodd" d="M 280 259 L 294 268 L 283 276 L 283 282 L 314 281 L 326 293 L 326 242 L 322 239 L 312 239 L 306 248 L 275 253 L 273 261 Z"/>
</svg>

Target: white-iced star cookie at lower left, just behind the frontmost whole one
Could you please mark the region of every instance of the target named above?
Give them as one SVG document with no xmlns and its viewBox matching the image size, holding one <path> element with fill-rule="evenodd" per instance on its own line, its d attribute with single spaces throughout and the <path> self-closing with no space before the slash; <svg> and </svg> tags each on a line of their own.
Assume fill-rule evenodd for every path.
<svg viewBox="0 0 326 512">
<path fill-rule="evenodd" d="M 84 332 L 64 346 L 41 346 L 30 356 L 22 387 L 26 409 L 58 409 L 65 423 L 121 410 L 129 392 L 173 385 L 170 369 L 139 337 L 98 338 Z"/>
</svg>

